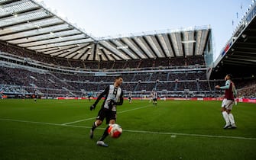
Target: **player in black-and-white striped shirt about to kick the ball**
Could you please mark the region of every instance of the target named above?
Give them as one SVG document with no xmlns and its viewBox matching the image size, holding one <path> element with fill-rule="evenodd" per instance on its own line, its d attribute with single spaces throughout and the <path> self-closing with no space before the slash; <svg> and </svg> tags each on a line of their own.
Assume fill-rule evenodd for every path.
<svg viewBox="0 0 256 160">
<path fill-rule="evenodd" d="M 109 85 L 105 88 L 105 90 L 99 94 L 99 97 L 95 101 L 94 104 L 90 107 L 90 110 L 94 110 L 96 108 L 96 105 L 98 104 L 99 100 L 101 98 L 105 98 L 101 109 L 99 110 L 98 116 L 96 117 L 96 121 L 92 124 L 92 129 L 90 130 L 90 138 L 93 138 L 93 132 L 96 129 L 96 127 L 100 126 L 103 122 L 103 120 L 106 120 L 106 124 L 114 124 L 116 120 L 116 106 L 122 105 L 124 98 L 123 98 L 123 91 L 122 88 L 120 88 L 120 85 L 122 85 L 123 78 L 122 76 L 117 76 L 115 78 L 114 85 Z M 105 131 L 102 135 L 102 137 L 97 141 L 98 146 L 105 146 L 108 145 L 104 142 L 104 139 L 109 135 L 109 125 L 105 128 Z"/>
</svg>

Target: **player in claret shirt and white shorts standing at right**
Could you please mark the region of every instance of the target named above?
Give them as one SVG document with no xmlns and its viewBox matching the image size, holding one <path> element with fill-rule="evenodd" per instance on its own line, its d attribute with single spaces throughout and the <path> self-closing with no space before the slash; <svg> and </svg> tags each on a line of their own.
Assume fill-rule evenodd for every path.
<svg viewBox="0 0 256 160">
<path fill-rule="evenodd" d="M 236 95 L 236 90 L 233 88 L 233 82 L 231 81 L 232 75 L 225 75 L 225 86 L 220 87 L 216 85 L 215 88 L 225 89 L 225 96 L 222 101 L 222 116 L 225 120 L 224 129 L 227 128 L 236 128 L 235 119 L 231 113 L 233 104 L 234 104 L 234 94 Z"/>
</svg>

